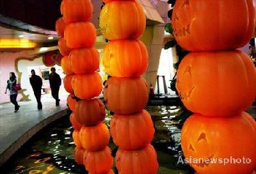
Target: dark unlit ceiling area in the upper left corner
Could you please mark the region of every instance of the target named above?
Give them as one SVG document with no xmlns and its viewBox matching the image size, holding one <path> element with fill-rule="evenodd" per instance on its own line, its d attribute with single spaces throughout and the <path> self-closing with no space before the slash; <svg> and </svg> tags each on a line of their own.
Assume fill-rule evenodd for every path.
<svg viewBox="0 0 256 174">
<path fill-rule="evenodd" d="M 55 30 L 61 0 L 0 0 L 0 14 L 44 29 Z"/>
</svg>

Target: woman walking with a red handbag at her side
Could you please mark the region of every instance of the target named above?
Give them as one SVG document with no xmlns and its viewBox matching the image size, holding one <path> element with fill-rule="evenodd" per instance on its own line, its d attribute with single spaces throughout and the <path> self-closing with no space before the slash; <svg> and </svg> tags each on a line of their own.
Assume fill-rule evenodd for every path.
<svg viewBox="0 0 256 174">
<path fill-rule="evenodd" d="M 10 72 L 10 79 L 7 81 L 5 93 L 7 93 L 7 90 L 10 90 L 10 101 L 12 102 L 12 104 L 14 104 L 14 112 L 17 113 L 20 106 L 17 103 L 18 92 L 13 89 L 13 86 L 15 84 L 17 84 L 16 75 L 14 74 L 14 72 Z"/>
</svg>

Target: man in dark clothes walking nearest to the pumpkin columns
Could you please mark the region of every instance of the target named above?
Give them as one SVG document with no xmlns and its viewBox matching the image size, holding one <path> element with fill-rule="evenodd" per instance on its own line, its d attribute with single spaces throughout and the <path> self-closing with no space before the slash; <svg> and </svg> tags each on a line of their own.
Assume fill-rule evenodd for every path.
<svg viewBox="0 0 256 174">
<path fill-rule="evenodd" d="M 51 74 L 49 77 L 50 86 L 52 90 L 52 97 L 56 100 L 56 106 L 60 105 L 59 99 L 59 91 L 61 85 L 61 78 L 60 75 L 56 73 L 56 69 L 54 67 L 51 68 Z"/>
</svg>

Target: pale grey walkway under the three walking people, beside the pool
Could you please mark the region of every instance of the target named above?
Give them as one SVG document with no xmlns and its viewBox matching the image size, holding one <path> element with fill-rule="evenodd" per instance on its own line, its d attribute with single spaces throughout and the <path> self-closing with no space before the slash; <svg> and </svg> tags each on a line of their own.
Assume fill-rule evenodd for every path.
<svg viewBox="0 0 256 174">
<path fill-rule="evenodd" d="M 32 127 L 60 111 L 67 109 L 67 97 L 61 97 L 60 106 L 52 98 L 42 99 L 43 109 L 37 110 L 36 101 L 19 102 L 20 110 L 13 113 L 13 104 L 0 105 L 0 154 Z"/>
</svg>

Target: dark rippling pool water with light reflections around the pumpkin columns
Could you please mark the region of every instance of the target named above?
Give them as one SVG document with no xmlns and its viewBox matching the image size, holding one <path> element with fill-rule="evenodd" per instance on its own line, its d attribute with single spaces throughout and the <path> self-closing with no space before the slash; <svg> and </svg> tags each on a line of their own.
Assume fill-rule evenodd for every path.
<svg viewBox="0 0 256 174">
<path fill-rule="evenodd" d="M 148 106 L 147 111 L 152 115 L 156 129 L 152 145 L 157 150 L 158 173 L 193 173 L 189 166 L 177 164 L 179 156 L 182 156 L 180 148 L 182 109 L 177 106 Z M 108 126 L 111 117 L 107 111 L 104 122 Z M 0 168 L 1 173 L 86 173 L 83 166 L 77 165 L 74 161 L 75 145 L 72 131 L 69 116 L 45 127 Z M 117 147 L 112 139 L 109 147 L 115 156 Z M 113 169 L 116 171 L 115 166 Z"/>
</svg>

